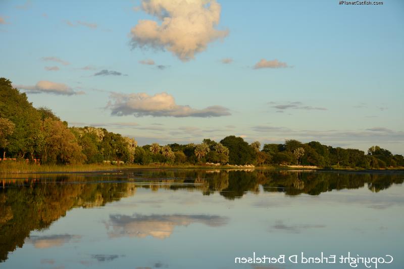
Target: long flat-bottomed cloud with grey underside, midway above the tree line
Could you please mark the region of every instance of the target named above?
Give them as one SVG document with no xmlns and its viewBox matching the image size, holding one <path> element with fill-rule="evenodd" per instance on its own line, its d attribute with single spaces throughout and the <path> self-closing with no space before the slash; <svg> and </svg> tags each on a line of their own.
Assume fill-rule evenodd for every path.
<svg viewBox="0 0 404 269">
<path fill-rule="evenodd" d="M 189 105 L 178 105 L 174 97 L 166 92 L 150 96 L 146 93 L 112 93 L 108 106 L 112 115 L 136 117 L 220 117 L 231 115 L 226 107 L 208 106 L 205 109 L 193 109 Z"/>
</svg>

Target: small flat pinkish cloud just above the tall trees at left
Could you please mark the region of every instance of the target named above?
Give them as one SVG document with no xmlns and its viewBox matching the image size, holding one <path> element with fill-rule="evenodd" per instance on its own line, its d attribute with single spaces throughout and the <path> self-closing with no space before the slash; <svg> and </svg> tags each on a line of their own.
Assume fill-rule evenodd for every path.
<svg viewBox="0 0 404 269">
<path fill-rule="evenodd" d="M 58 95 L 84 94 L 83 91 L 74 91 L 63 83 L 41 80 L 34 86 L 15 85 L 17 89 L 25 90 L 27 93 L 53 93 Z"/>
</svg>

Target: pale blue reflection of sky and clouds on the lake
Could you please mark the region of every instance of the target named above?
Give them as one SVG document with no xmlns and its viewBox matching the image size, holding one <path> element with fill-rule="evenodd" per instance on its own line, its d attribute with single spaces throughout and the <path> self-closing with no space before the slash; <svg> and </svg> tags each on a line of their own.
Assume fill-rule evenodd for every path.
<svg viewBox="0 0 404 269">
<path fill-rule="evenodd" d="M 158 206 L 156 206 L 158 205 Z M 253 268 L 235 256 L 346 254 L 404 257 L 402 185 L 379 193 L 366 187 L 319 196 L 137 189 L 103 207 L 74 208 L 49 229 L 31 232 L 2 268 Z M 271 268 L 257 264 L 256 268 Z M 273 265 L 273 268 L 350 268 Z M 359 267 L 359 268 L 363 268 Z"/>
</svg>

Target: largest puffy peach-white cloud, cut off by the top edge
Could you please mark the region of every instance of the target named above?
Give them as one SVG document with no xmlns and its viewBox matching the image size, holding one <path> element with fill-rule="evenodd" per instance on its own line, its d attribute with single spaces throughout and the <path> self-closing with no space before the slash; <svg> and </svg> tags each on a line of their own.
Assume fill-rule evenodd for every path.
<svg viewBox="0 0 404 269">
<path fill-rule="evenodd" d="M 215 0 L 143 0 L 141 9 L 161 23 L 139 20 L 131 29 L 132 47 L 167 49 L 189 61 L 210 42 L 228 35 L 228 30 L 216 29 L 221 7 Z"/>
</svg>

